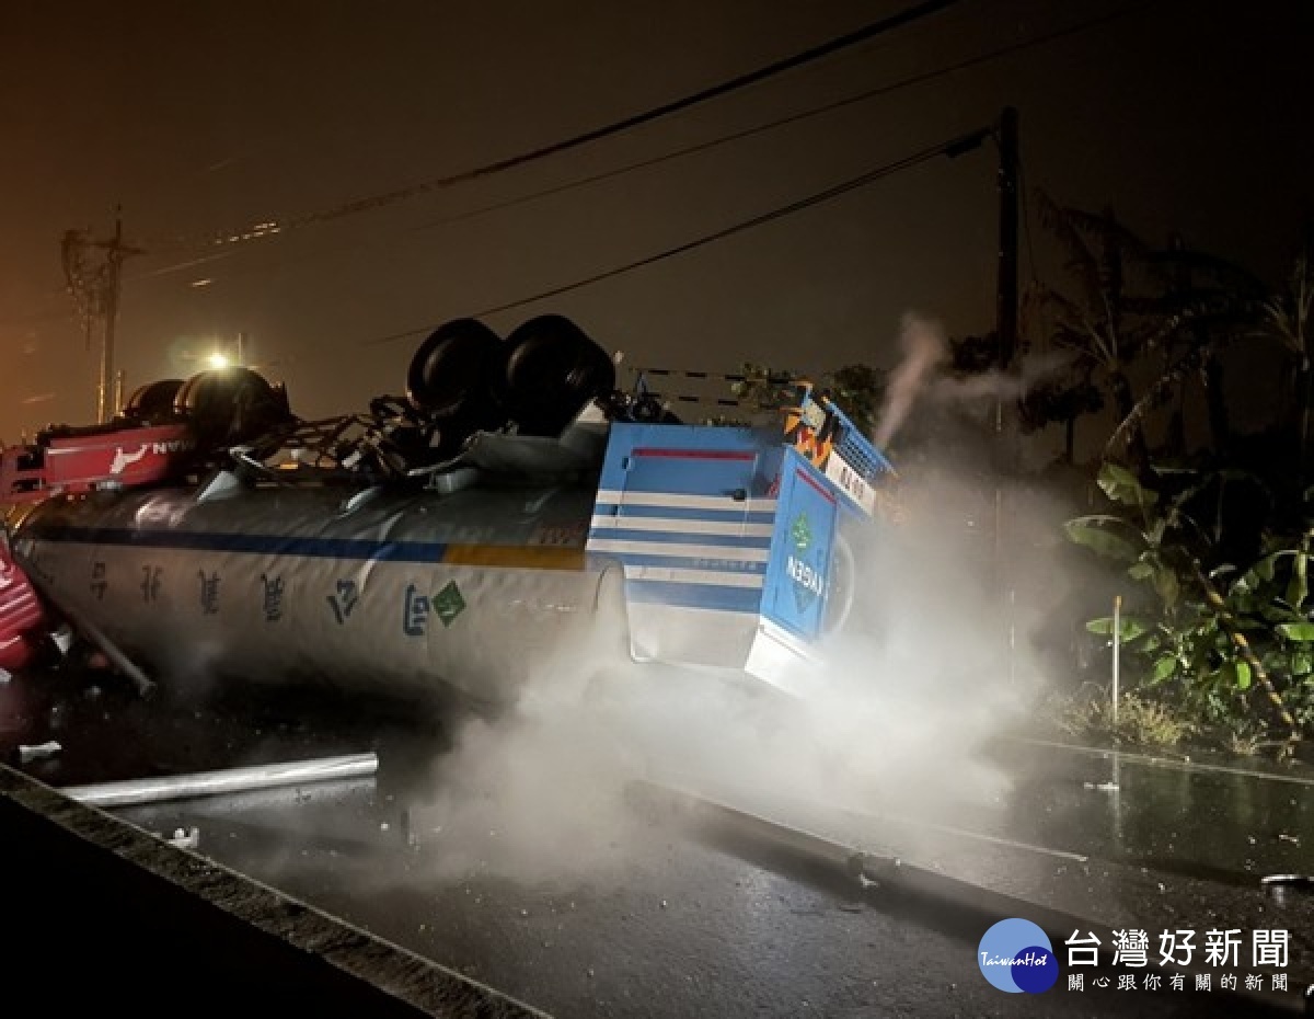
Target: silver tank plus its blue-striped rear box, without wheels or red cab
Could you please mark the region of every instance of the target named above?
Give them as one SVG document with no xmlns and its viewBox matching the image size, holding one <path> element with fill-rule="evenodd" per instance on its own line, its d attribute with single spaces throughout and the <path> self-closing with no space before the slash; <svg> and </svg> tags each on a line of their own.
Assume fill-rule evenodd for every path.
<svg viewBox="0 0 1314 1019">
<path fill-rule="evenodd" d="M 5 529 L 57 614 L 171 684 L 505 705 L 549 665 L 583 680 L 628 648 L 807 696 L 853 600 L 844 521 L 866 526 L 890 465 L 811 388 L 799 398 L 783 437 L 591 405 L 557 437 L 481 430 L 459 459 L 374 486 L 239 458 L 244 472 L 185 486 L 26 504 Z M 35 623 L 18 623 L 26 639 Z"/>
</svg>

